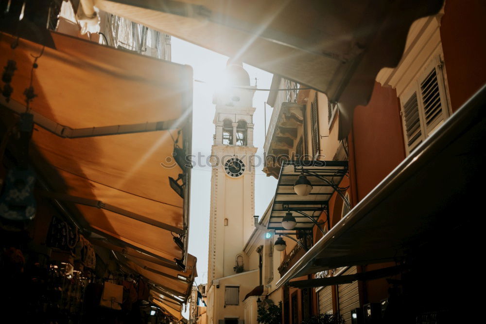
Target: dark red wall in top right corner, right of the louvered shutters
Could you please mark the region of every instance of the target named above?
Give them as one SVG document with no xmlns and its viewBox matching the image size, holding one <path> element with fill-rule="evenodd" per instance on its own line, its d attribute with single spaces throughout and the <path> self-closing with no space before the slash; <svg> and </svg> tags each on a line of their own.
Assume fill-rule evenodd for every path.
<svg viewBox="0 0 486 324">
<path fill-rule="evenodd" d="M 440 38 L 452 111 L 486 83 L 485 0 L 446 0 Z"/>
</svg>

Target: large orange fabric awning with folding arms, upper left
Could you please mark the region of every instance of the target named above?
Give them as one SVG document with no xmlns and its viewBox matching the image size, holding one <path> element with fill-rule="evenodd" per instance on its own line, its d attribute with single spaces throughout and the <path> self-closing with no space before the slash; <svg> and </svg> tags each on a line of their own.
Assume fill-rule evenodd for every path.
<svg viewBox="0 0 486 324">
<path fill-rule="evenodd" d="M 37 97 L 31 160 L 49 187 L 46 196 L 68 206 L 86 230 L 111 243 L 176 266 L 185 262 L 190 172 L 173 159 L 190 154 L 192 71 L 51 32 L 54 48 L 1 35 L 0 62 L 17 62 L 10 102 L 24 112 L 23 91 L 33 72 Z M 2 109 L 2 119 L 12 118 Z M 176 144 L 174 143 L 176 142 Z M 171 160 L 173 167 L 161 162 Z M 169 177 L 183 185 L 179 196 Z M 183 246 L 174 236 L 180 236 Z M 181 264 L 179 262 L 179 264 Z"/>
</svg>

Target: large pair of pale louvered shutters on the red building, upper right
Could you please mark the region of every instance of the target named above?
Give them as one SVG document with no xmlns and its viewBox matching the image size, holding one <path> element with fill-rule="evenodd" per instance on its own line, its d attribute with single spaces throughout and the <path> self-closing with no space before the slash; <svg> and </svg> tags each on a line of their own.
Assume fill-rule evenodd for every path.
<svg viewBox="0 0 486 324">
<path fill-rule="evenodd" d="M 410 154 L 449 116 L 439 57 L 413 82 L 400 102 L 405 146 Z"/>
</svg>

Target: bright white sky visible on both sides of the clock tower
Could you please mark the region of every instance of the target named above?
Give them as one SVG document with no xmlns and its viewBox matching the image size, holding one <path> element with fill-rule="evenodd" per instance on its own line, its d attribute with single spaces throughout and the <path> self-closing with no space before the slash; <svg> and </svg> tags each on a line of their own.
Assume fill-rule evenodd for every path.
<svg viewBox="0 0 486 324">
<path fill-rule="evenodd" d="M 194 82 L 193 115 L 192 115 L 192 154 L 201 152 L 208 156 L 214 134 L 215 107 L 212 104 L 214 84 L 218 74 L 226 68 L 227 56 L 217 54 L 202 47 L 172 37 L 172 61 L 190 65 L 196 80 L 209 84 Z M 272 74 L 243 64 L 250 75 L 251 85 L 257 78 L 259 89 L 269 89 Z M 254 145 L 258 147 L 257 154 L 263 156 L 264 138 L 264 108 L 268 91 L 256 91 L 253 97 L 253 107 L 257 108 L 253 116 Z M 267 107 L 267 125 L 272 114 L 272 108 Z M 205 160 L 205 159 L 204 159 Z M 204 161 L 203 160 L 203 161 Z M 262 215 L 275 192 L 277 180 L 267 177 L 262 166 L 256 169 L 255 176 L 255 215 Z M 191 176 L 191 220 L 189 224 L 189 253 L 197 257 L 196 283 L 206 283 L 208 280 L 208 237 L 209 237 L 209 199 L 211 186 L 211 168 L 195 166 Z M 185 314 L 187 317 L 187 314 Z"/>
</svg>

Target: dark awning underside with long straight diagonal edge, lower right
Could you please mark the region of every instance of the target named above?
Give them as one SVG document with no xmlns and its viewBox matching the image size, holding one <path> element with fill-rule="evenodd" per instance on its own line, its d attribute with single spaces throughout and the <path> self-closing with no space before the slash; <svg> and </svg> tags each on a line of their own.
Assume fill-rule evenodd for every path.
<svg viewBox="0 0 486 324">
<path fill-rule="evenodd" d="M 485 106 L 486 86 L 326 233 L 277 287 L 326 269 L 394 261 L 428 245 L 474 249 L 455 238 L 476 235 L 477 225 L 466 224 L 475 221 L 484 199 L 473 184 L 486 180 Z"/>
</svg>

